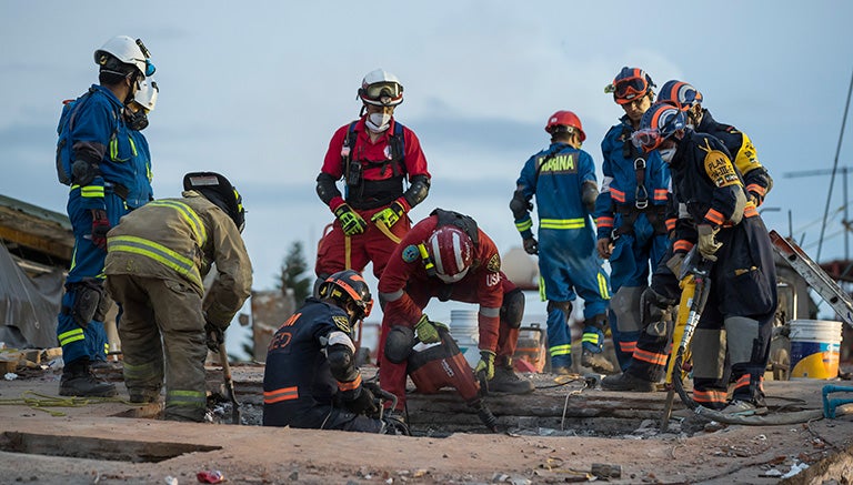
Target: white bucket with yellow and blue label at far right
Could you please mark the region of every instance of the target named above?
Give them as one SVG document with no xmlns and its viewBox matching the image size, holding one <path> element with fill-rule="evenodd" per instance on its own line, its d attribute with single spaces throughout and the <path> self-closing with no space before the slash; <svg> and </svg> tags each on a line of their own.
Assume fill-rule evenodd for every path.
<svg viewBox="0 0 853 485">
<path fill-rule="evenodd" d="M 791 321 L 791 378 L 839 376 L 841 322 Z"/>
</svg>

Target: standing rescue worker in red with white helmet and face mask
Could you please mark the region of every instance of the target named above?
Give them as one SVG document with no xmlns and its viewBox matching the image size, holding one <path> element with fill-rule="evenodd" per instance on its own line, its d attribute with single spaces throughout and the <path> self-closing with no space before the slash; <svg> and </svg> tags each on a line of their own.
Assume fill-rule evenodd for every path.
<svg viewBox="0 0 853 485">
<path fill-rule="evenodd" d="M 317 193 L 334 213 L 331 232 L 318 245 L 317 287 L 338 271 L 363 272 L 373 262 L 382 274 L 388 257 L 409 231 L 409 211 L 430 191 L 430 173 L 421 142 L 394 118 L 403 87 L 382 69 L 369 72 L 358 93 L 360 119 L 332 135 Z M 343 195 L 335 185 L 344 179 Z M 403 190 L 408 180 L 409 188 Z"/>
</svg>

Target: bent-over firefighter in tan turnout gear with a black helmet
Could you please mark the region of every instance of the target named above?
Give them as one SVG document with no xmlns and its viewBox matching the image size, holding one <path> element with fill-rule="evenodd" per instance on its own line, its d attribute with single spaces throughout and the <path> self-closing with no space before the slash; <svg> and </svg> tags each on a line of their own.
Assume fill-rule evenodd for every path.
<svg viewBox="0 0 853 485">
<path fill-rule="evenodd" d="M 188 173 L 183 188 L 182 198 L 149 202 L 110 230 L 104 272 L 122 312 L 130 401 L 157 402 L 165 375 L 163 417 L 202 422 L 204 358 L 208 348 L 218 352 L 249 297 L 252 267 L 237 189 L 213 172 Z M 213 263 L 217 277 L 202 302 L 202 280 Z"/>
</svg>

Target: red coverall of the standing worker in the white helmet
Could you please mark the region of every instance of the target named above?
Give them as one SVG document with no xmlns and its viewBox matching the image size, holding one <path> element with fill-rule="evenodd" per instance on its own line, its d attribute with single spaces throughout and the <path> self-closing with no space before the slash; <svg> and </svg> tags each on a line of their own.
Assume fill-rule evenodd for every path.
<svg viewBox="0 0 853 485">
<path fill-rule="evenodd" d="M 335 219 L 332 231 L 323 236 L 318 246 L 314 266 L 317 275 L 329 275 L 347 269 L 361 273 L 372 261 L 373 274 L 379 279 L 397 243 L 409 231 L 411 221 L 408 216 L 401 216 L 397 224 L 388 229 L 391 233 L 388 235 L 371 222 L 370 218 L 394 201 L 402 204 L 407 212 L 411 210 L 403 196 L 403 179 L 408 176 L 411 181 L 414 175 L 430 176 L 421 142 L 413 131 L 405 127 L 402 129 L 403 160 L 383 163 L 392 155 L 389 142 L 391 134 L 394 133 L 397 121 L 392 119 L 389 129 L 375 142 L 371 142 L 364 125 L 365 118 L 367 115 L 362 117 L 355 123 L 354 131 L 358 138 L 350 151 L 352 160 L 361 161 L 362 182 L 358 189 L 348 188 L 345 202 L 364 219 L 368 228 L 361 234 L 347 236 L 340 221 Z M 334 132 L 323 161 L 321 172 L 331 175 L 335 181 L 344 174 L 342 150 L 349 129 L 348 123 Z M 334 212 L 343 203 L 344 196 L 339 192 L 329 202 L 329 209 Z"/>
</svg>

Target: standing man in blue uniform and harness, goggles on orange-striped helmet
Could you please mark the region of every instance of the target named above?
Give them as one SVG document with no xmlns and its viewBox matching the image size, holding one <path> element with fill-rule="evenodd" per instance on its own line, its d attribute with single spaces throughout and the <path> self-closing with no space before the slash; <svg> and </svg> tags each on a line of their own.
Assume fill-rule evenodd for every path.
<svg viewBox="0 0 853 485">
<path fill-rule="evenodd" d="M 640 297 L 669 246 L 670 171 L 660 154 L 643 153 L 631 134 L 652 104 L 655 84 L 638 68 L 622 68 L 605 92 L 625 114 L 604 135 L 601 193 L 595 202 L 596 250 L 610 260 L 610 327 L 620 367 L 630 363 L 640 336 Z M 672 221 L 674 223 L 674 220 Z"/>
</svg>

